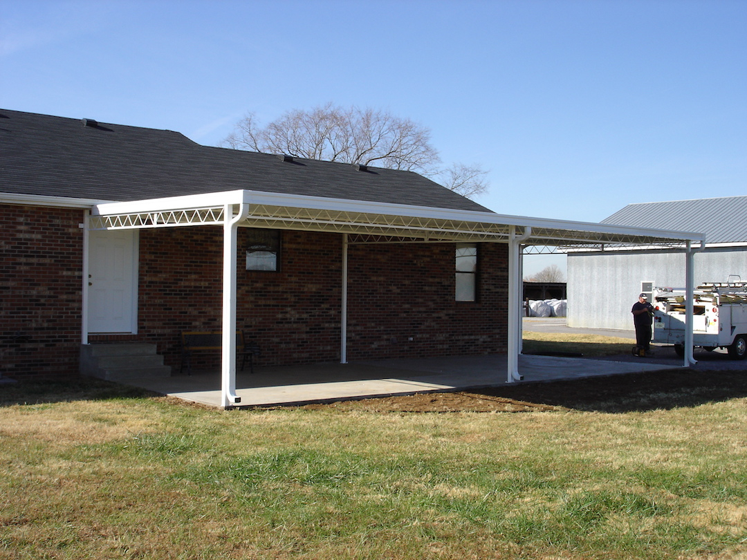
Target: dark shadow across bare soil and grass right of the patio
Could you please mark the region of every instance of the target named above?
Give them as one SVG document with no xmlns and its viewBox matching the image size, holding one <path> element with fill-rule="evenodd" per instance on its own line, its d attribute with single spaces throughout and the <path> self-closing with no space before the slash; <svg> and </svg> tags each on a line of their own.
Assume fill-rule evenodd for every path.
<svg viewBox="0 0 747 560">
<path fill-rule="evenodd" d="M 677 369 L 589 377 L 491 388 L 480 394 L 610 413 L 693 407 L 747 397 L 747 365 L 743 370 Z"/>
</svg>

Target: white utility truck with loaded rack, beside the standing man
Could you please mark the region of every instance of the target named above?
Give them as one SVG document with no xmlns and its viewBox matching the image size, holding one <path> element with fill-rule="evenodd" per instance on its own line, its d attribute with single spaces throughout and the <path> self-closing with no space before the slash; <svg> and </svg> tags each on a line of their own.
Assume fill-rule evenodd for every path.
<svg viewBox="0 0 747 560">
<path fill-rule="evenodd" d="M 731 277 L 730 277 L 731 278 Z M 674 344 L 684 355 L 685 289 L 654 287 L 653 342 Z M 747 356 L 747 282 L 701 284 L 693 291 L 692 345 L 728 349 L 734 360 Z"/>
</svg>

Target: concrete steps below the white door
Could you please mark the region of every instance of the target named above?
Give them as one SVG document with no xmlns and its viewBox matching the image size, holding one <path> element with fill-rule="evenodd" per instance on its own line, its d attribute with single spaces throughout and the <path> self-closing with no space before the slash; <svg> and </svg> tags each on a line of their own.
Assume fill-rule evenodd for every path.
<svg viewBox="0 0 747 560">
<path fill-rule="evenodd" d="M 80 370 L 81 375 L 115 382 L 171 376 L 155 344 L 141 342 L 82 344 Z"/>
</svg>

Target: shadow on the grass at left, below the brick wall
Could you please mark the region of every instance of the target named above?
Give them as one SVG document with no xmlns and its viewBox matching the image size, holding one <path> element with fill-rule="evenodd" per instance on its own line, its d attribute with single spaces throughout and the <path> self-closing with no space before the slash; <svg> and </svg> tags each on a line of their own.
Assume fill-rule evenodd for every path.
<svg viewBox="0 0 747 560">
<path fill-rule="evenodd" d="M 156 393 L 90 377 L 22 380 L 0 385 L 0 406 L 40 405 L 76 400 L 139 399 Z"/>
</svg>

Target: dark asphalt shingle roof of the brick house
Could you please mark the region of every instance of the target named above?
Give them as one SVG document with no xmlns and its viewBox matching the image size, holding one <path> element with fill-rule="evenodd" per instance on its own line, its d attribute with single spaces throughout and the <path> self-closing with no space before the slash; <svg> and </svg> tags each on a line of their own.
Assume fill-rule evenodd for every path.
<svg viewBox="0 0 747 560">
<path fill-rule="evenodd" d="M 0 192 L 131 201 L 240 189 L 488 211 L 414 172 L 288 162 L 173 131 L 0 109 Z"/>
</svg>

